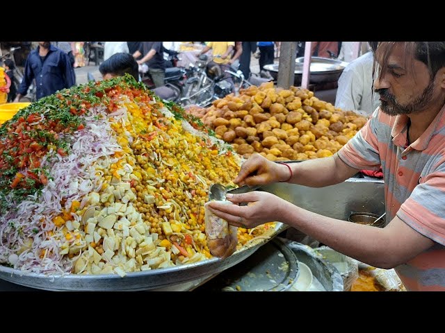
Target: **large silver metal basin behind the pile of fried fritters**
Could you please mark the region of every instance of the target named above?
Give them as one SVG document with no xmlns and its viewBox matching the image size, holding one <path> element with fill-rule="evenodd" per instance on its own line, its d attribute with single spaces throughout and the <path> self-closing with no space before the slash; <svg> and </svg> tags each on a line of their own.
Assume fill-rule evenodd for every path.
<svg viewBox="0 0 445 333">
<path fill-rule="evenodd" d="M 295 80 L 294 85 L 301 85 L 301 78 L 303 73 L 304 57 L 296 58 L 295 62 Z M 329 83 L 337 82 L 343 69 L 348 65 L 348 62 L 327 59 L 320 57 L 311 58 L 311 74 L 309 76 L 309 83 Z M 270 71 L 270 74 L 276 80 L 278 76 L 279 64 L 265 65 L 264 69 Z"/>
</svg>

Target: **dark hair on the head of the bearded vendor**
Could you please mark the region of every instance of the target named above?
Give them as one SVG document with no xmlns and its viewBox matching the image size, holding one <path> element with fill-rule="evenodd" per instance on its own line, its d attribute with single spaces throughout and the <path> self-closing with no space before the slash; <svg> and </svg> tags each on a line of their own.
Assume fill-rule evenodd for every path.
<svg viewBox="0 0 445 333">
<path fill-rule="evenodd" d="M 428 67 L 431 78 L 435 77 L 439 69 L 445 67 L 445 42 L 380 42 L 380 72 L 386 70 L 389 54 L 396 43 L 404 43 L 405 54 L 413 55 L 414 59 L 423 62 Z"/>
</svg>

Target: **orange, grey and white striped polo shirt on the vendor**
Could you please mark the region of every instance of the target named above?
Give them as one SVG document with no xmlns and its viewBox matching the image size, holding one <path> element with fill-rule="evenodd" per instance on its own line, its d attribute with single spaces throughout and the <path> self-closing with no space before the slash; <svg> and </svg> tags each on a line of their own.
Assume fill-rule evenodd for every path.
<svg viewBox="0 0 445 333">
<path fill-rule="evenodd" d="M 398 216 L 435 245 L 395 268 L 407 290 L 445 291 L 445 107 L 426 131 L 406 146 L 406 115 L 375 110 L 339 157 L 355 169 L 385 178 L 387 221 Z"/>
</svg>

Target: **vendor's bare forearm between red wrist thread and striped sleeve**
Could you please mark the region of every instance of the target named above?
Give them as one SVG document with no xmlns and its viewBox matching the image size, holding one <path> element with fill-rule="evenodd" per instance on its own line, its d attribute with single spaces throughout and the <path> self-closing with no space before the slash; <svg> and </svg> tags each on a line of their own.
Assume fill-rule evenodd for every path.
<svg viewBox="0 0 445 333">
<path fill-rule="evenodd" d="M 358 172 L 340 160 L 337 154 L 331 157 L 291 163 L 293 177 L 289 182 L 308 187 L 325 187 L 338 184 Z"/>
</svg>

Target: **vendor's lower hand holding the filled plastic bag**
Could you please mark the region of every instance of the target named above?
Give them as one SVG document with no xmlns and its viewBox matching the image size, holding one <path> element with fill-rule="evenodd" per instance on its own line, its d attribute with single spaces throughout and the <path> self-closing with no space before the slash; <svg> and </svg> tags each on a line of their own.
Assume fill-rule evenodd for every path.
<svg viewBox="0 0 445 333">
<path fill-rule="evenodd" d="M 211 212 L 231 225 L 248 229 L 266 222 L 280 221 L 282 212 L 289 210 L 287 205 L 291 205 L 282 198 L 262 191 L 227 194 L 227 200 L 235 205 L 224 205 L 212 201 L 209 203 Z M 238 203 L 248 203 L 248 205 L 238 206 Z"/>
</svg>

